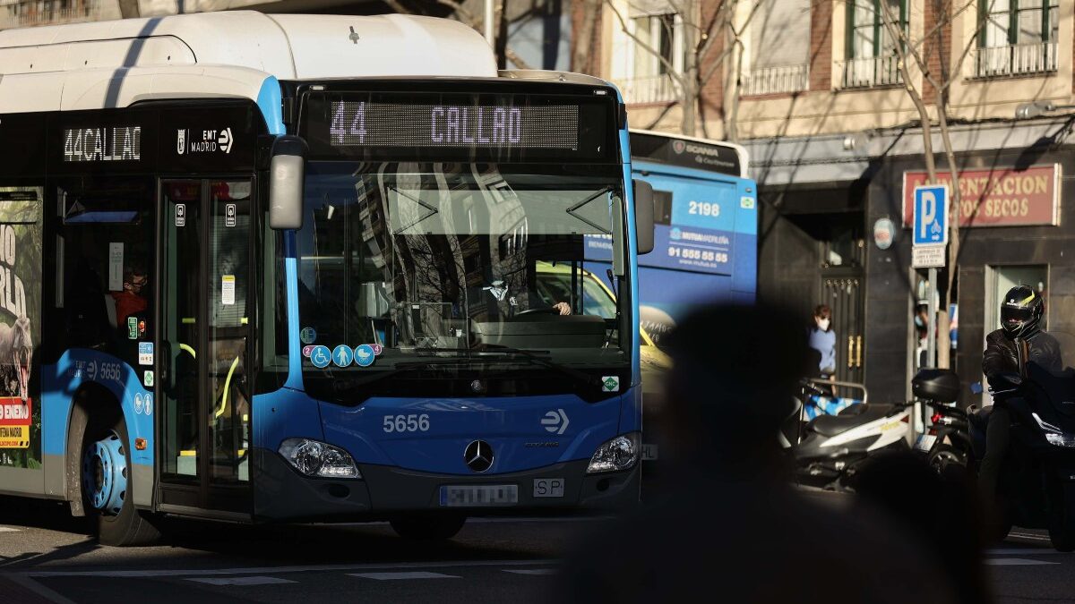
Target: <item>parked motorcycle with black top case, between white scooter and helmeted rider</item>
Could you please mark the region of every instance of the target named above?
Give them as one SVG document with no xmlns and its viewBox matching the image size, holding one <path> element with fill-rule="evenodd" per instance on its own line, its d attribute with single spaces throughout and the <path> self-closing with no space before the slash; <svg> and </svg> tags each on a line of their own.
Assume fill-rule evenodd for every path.
<svg viewBox="0 0 1075 604">
<path fill-rule="evenodd" d="M 933 412 L 930 426 L 915 442 L 915 450 L 924 455 L 938 474 L 966 469 L 973 454 L 968 414 L 955 406 L 959 377 L 951 370 L 923 369 L 911 380 L 911 389 L 915 396 L 913 404 Z"/>
</svg>

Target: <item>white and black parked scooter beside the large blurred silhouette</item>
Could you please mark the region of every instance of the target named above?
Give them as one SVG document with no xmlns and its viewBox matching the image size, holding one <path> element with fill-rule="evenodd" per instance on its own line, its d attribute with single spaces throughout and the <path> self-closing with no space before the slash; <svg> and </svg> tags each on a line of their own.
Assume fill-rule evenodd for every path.
<svg viewBox="0 0 1075 604">
<path fill-rule="evenodd" d="M 837 415 L 818 415 L 809 421 L 805 405 L 811 398 L 828 397 L 808 382 L 803 382 L 798 398 L 794 442 L 780 434 L 785 449 L 793 457 L 799 484 L 827 490 L 851 488 L 859 466 L 871 454 L 883 449 L 907 448 L 911 406 L 861 402 L 846 406 Z M 865 399 L 865 397 L 864 397 Z"/>
</svg>

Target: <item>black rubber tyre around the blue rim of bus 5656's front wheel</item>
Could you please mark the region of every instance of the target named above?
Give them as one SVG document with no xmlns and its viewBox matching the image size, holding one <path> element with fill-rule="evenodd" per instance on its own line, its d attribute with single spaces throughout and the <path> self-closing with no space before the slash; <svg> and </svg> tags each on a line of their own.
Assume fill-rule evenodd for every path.
<svg viewBox="0 0 1075 604">
<path fill-rule="evenodd" d="M 124 457 L 127 459 L 127 492 L 123 493 L 123 506 L 118 514 L 101 513 L 94 508 L 89 493 L 83 492 L 83 506 L 97 529 L 97 538 L 101 545 L 119 547 L 153 545 L 160 538 L 160 531 L 150 522 L 150 515 L 134 508 L 133 473 L 130 472 L 130 441 L 127 435 L 127 422 L 118 409 L 111 413 L 98 407 L 89 412 L 89 421 L 83 433 L 80 463 L 85 458 L 87 448 L 94 443 L 115 434 L 119 437 Z M 81 479 L 81 477 L 80 477 Z M 85 491 L 85 489 L 84 489 Z"/>
</svg>

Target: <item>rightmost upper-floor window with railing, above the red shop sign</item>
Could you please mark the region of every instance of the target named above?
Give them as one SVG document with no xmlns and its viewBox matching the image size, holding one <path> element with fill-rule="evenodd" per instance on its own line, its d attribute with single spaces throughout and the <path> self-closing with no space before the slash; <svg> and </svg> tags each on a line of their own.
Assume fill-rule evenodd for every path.
<svg viewBox="0 0 1075 604">
<path fill-rule="evenodd" d="M 1060 0 L 980 0 L 974 75 L 1057 71 Z"/>
</svg>

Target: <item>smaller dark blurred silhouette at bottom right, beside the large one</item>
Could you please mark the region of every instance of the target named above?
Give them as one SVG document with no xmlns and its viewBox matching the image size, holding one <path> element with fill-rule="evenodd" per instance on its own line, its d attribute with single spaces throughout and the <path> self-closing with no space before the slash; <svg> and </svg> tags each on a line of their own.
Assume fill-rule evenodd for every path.
<svg viewBox="0 0 1075 604">
<path fill-rule="evenodd" d="M 988 533 L 965 468 L 948 466 L 938 474 L 921 456 L 887 452 L 863 464 L 854 487 L 865 503 L 887 512 L 932 549 L 959 602 L 992 602 L 984 563 Z"/>
</svg>

